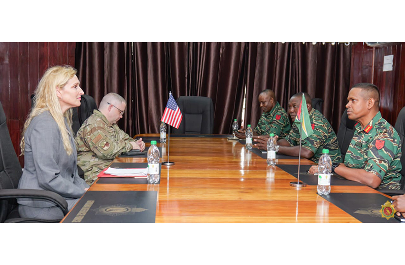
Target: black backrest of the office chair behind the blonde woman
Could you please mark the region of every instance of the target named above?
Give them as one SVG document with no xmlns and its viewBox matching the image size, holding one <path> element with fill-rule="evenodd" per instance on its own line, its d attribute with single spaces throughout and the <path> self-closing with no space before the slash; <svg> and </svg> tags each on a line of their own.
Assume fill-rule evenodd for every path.
<svg viewBox="0 0 405 265">
<path fill-rule="evenodd" d="M 17 188 L 22 169 L 15 153 L 6 123 L 6 114 L 0 102 L 0 190 Z M 0 202 L 0 222 L 17 206 L 15 199 Z"/>
</svg>

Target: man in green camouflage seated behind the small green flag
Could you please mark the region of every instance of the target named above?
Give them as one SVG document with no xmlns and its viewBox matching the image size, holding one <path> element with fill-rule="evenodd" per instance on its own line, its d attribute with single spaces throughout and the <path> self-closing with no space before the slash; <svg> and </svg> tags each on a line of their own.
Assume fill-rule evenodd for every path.
<svg viewBox="0 0 405 265">
<path fill-rule="evenodd" d="M 308 113 L 310 115 L 311 126 L 314 131 L 313 134 L 303 139 L 301 142 L 301 157 L 318 162 L 322 156 L 322 149 L 329 149 L 329 156 L 332 162 L 340 162 L 342 160 L 341 150 L 339 148 L 338 138 L 330 126 L 328 120 L 322 115 L 321 112 L 312 108 L 311 96 L 305 94 L 307 101 Z M 278 140 L 280 145 L 278 153 L 287 156 L 299 156 L 299 131 L 297 125 L 294 123 L 297 116 L 298 108 L 301 103 L 302 93 L 297 93 L 290 98 L 288 102 L 288 112 L 293 122 L 292 129 L 288 136 L 284 139 Z M 266 142 L 268 137 L 257 136 L 253 137 L 255 144 L 259 149 L 266 149 Z"/>
</svg>

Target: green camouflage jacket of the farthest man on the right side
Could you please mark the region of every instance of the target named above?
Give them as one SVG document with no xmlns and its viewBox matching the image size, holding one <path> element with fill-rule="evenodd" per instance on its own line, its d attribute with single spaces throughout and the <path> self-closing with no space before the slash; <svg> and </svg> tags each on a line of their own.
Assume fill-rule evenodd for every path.
<svg viewBox="0 0 405 265">
<path fill-rule="evenodd" d="M 263 112 L 260 116 L 254 131 L 259 135 L 269 135 L 274 133 L 279 139 L 285 138 L 291 130 L 290 121 L 287 112 L 282 108 L 279 102 L 268 112 Z"/>
</svg>

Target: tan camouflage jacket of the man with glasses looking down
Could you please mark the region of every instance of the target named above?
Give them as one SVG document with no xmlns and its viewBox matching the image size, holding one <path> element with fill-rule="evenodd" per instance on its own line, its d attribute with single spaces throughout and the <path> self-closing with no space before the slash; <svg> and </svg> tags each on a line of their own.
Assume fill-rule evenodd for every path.
<svg viewBox="0 0 405 265">
<path fill-rule="evenodd" d="M 132 149 L 134 142 L 117 124 L 111 124 L 102 112 L 95 109 L 76 135 L 77 164 L 84 171 L 84 180 L 91 185 L 98 173 L 118 155 Z"/>
</svg>

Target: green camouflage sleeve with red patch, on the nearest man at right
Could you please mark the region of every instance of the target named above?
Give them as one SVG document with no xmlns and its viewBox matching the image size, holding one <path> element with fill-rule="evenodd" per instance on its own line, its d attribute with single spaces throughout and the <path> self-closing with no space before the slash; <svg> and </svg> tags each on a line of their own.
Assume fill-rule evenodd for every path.
<svg viewBox="0 0 405 265">
<path fill-rule="evenodd" d="M 377 136 L 368 145 L 364 170 L 377 175 L 382 180 L 389 165 L 398 153 L 400 145 L 393 142 L 393 139 L 387 133 Z"/>
</svg>

